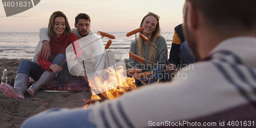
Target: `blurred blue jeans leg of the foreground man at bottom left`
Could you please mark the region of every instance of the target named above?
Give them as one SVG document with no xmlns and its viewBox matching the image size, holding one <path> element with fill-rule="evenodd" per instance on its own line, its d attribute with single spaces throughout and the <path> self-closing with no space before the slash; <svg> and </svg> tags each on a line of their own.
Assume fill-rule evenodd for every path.
<svg viewBox="0 0 256 128">
<path fill-rule="evenodd" d="M 90 122 L 90 109 L 50 109 L 36 114 L 23 122 L 21 128 L 29 127 L 96 127 Z"/>
</svg>

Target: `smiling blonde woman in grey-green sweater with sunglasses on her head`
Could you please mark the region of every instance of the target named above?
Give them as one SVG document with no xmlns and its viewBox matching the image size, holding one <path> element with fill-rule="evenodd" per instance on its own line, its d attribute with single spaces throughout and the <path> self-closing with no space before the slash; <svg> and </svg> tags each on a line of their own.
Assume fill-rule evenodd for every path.
<svg viewBox="0 0 256 128">
<path fill-rule="evenodd" d="M 162 53 L 164 53 L 165 56 L 167 56 L 167 44 L 165 38 L 161 36 L 159 19 L 160 17 L 158 15 L 152 12 L 148 12 L 147 15 L 143 17 L 140 23 L 140 27 L 145 28 L 143 31 L 140 32 L 140 34 L 143 34 L 145 37 L 147 37 L 147 39 L 150 40 L 154 46 L 156 46 Z M 147 61 L 158 63 L 161 65 L 167 65 L 167 60 L 165 59 L 163 54 L 161 54 L 156 48 L 149 44 L 148 41 L 142 40 L 140 37 L 137 38 L 137 45 L 135 40 L 131 43 L 130 51 L 133 54 L 138 55 Z M 129 66 L 130 69 L 138 68 L 141 69 L 142 72 L 153 70 L 153 73 L 165 69 L 162 66 L 153 65 L 152 63 L 139 62 L 131 56 L 129 57 Z M 151 77 L 152 80 L 150 79 L 149 82 L 156 82 L 158 78 L 165 79 L 160 75 L 162 75 L 162 73 L 154 73 Z"/>
</svg>

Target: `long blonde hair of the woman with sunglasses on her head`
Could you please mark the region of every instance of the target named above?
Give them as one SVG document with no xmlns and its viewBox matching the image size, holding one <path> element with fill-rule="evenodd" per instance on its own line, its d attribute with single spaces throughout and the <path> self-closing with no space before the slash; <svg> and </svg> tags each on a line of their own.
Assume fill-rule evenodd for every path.
<svg viewBox="0 0 256 128">
<path fill-rule="evenodd" d="M 147 17 L 147 16 L 150 16 L 150 15 L 153 15 L 153 16 L 157 19 L 156 29 L 155 29 L 155 31 L 152 33 L 151 39 L 150 39 L 150 41 L 152 42 L 152 44 L 153 44 L 154 46 L 156 46 L 156 44 L 157 44 L 157 41 L 156 41 L 156 40 L 157 40 L 157 38 L 158 38 L 158 37 L 161 35 L 161 33 L 162 33 L 162 31 L 161 31 L 161 29 L 160 29 L 160 26 L 159 26 L 159 18 L 158 18 L 156 15 L 154 15 L 154 14 L 147 14 L 147 15 L 145 15 L 145 16 L 143 17 L 143 19 L 141 20 L 140 27 L 142 27 L 143 22 L 144 22 L 144 20 L 146 19 L 146 17 Z M 143 31 L 141 31 L 140 34 L 143 34 Z M 144 52 L 145 52 L 145 51 L 143 51 L 142 45 L 143 45 L 143 40 L 142 40 L 140 37 L 138 37 L 138 38 L 137 38 L 137 51 L 136 51 L 136 52 L 137 52 L 137 55 L 140 56 L 140 57 L 143 57 L 143 58 L 147 59 L 148 61 L 154 62 L 154 61 L 155 61 L 155 55 L 156 55 L 156 53 L 155 53 L 156 49 L 155 49 L 152 45 L 148 44 L 148 45 L 147 45 L 147 51 L 150 51 L 150 52 L 147 52 L 147 56 L 144 56 Z M 142 62 L 140 62 L 140 65 L 141 65 L 141 64 L 142 64 Z"/>
</svg>

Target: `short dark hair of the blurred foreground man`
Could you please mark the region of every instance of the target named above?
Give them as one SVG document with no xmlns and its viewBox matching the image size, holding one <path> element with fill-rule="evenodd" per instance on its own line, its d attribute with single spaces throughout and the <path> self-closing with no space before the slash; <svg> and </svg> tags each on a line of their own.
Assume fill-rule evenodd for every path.
<svg viewBox="0 0 256 128">
<path fill-rule="evenodd" d="M 256 30 L 255 0 L 186 0 L 194 3 L 206 24 L 218 32 Z"/>
</svg>

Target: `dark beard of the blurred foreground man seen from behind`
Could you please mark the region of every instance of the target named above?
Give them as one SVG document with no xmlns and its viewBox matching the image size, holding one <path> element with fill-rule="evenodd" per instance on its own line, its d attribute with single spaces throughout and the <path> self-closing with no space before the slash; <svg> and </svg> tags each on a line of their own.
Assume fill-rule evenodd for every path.
<svg viewBox="0 0 256 128">
<path fill-rule="evenodd" d="M 187 11 L 185 11 L 184 24 L 182 25 L 183 34 L 185 36 L 185 39 L 187 40 L 188 46 L 192 50 L 194 56 L 196 57 L 197 60 L 199 60 L 201 57 L 200 57 L 200 55 L 198 53 L 198 50 L 197 50 L 197 42 L 195 41 L 196 39 L 193 36 L 193 33 L 188 29 L 186 24 L 187 24 Z"/>
</svg>

